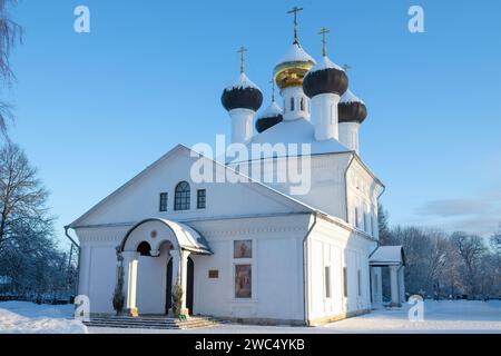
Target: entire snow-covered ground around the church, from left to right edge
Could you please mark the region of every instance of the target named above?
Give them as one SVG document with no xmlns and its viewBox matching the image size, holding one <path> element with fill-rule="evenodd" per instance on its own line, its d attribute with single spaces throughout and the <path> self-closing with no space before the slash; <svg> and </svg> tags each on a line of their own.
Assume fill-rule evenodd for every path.
<svg viewBox="0 0 501 356">
<path fill-rule="evenodd" d="M 38 306 L 30 303 L 0 303 L 0 333 L 208 333 L 208 334 L 303 334 L 303 333 L 499 333 L 501 301 L 426 301 L 424 322 L 410 322 L 409 306 L 379 309 L 322 327 L 250 326 L 225 324 L 196 330 L 138 330 L 86 328 L 71 320 L 72 306 Z"/>
</svg>

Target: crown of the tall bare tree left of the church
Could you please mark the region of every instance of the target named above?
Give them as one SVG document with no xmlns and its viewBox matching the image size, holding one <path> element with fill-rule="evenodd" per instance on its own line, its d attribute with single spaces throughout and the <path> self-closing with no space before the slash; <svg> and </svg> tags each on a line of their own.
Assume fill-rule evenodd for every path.
<svg viewBox="0 0 501 356">
<path fill-rule="evenodd" d="M 43 234 L 48 221 L 48 192 L 19 146 L 8 142 L 0 149 L 0 253 L 13 238 L 14 229 L 29 226 Z"/>
</svg>

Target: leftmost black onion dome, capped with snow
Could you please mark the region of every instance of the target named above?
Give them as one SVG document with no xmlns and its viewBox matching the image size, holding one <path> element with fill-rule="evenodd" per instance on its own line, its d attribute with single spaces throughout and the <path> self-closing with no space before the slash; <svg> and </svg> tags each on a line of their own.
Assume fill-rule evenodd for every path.
<svg viewBox="0 0 501 356">
<path fill-rule="evenodd" d="M 223 91 L 220 101 L 227 111 L 233 109 L 249 109 L 257 111 L 263 103 L 263 93 L 245 73 L 240 73 L 238 80 Z"/>
</svg>

